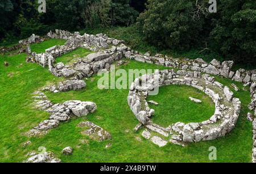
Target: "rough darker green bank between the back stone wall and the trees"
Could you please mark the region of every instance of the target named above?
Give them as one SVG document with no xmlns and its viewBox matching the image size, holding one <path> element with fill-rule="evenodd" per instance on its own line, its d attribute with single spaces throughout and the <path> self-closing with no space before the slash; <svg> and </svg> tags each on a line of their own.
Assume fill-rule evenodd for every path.
<svg viewBox="0 0 256 174">
<path fill-rule="evenodd" d="M 156 53 L 161 53 L 174 58 L 203 58 L 203 60 L 208 63 L 213 59 L 219 60 L 221 62 L 225 60 L 223 56 L 214 50 L 205 50 L 204 52 L 201 52 L 201 50 L 205 48 L 205 43 L 192 46 L 191 49 L 182 51 L 177 51 L 170 48 L 159 48 L 158 46 L 152 45 L 144 40 L 141 29 L 138 28 L 135 24 L 129 27 L 85 28 L 80 31 L 82 34 L 85 32 L 93 35 L 96 35 L 97 33 L 104 33 L 109 37 L 124 40 L 127 46 L 130 46 L 130 48 L 138 50 L 143 54 L 150 51 L 153 55 Z M 240 68 L 255 69 L 255 66 L 248 64 L 236 64 L 234 65 L 233 70 L 238 70 Z"/>
</svg>

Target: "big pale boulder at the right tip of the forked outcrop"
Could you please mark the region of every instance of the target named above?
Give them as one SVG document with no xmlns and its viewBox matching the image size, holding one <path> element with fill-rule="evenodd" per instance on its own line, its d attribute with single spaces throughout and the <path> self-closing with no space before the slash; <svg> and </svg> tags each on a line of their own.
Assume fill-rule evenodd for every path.
<svg viewBox="0 0 256 174">
<path fill-rule="evenodd" d="M 77 117 L 87 116 L 88 113 L 93 113 L 97 109 L 97 105 L 90 101 L 71 100 L 63 104 Z"/>
</svg>

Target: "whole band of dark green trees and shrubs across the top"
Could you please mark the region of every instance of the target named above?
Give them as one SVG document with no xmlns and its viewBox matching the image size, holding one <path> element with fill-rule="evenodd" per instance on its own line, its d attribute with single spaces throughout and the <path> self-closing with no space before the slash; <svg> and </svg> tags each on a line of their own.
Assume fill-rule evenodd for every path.
<svg viewBox="0 0 256 174">
<path fill-rule="evenodd" d="M 131 26 L 156 50 L 218 54 L 219 60 L 256 65 L 256 1 L 220 0 L 210 13 L 208 0 L 49 0 L 46 13 L 36 0 L 0 2 L 0 45 L 45 35 L 51 29 Z M 139 14 L 141 13 L 141 14 Z M 139 16 L 139 18 L 137 18 Z M 133 35 L 133 33 L 130 33 Z M 145 48 L 144 48 L 145 49 Z"/>
</svg>

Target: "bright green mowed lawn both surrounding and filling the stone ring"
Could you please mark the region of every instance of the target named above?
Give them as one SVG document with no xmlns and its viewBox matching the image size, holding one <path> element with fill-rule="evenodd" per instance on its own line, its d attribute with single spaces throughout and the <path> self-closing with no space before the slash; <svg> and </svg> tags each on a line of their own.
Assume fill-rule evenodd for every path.
<svg viewBox="0 0 256 174">
<path fill-rule="evenodd" d="M 44 42 L 45 43 L 45 42 Z M 47 49 L 48 44 L 41 44 L 36 52 Z M 54 42 L 53 42 L 54 43 Z M 56 44 L 54 44 L 56 45 Z M 53 46 L 53 45 L 52 45 Z M 44 47 L 44 48 L 43 48 Z M 214 141 L 192 143 L 187 147 L 180 147 L 168 143 L 159 148 L 151 141 L 141 137 L 142 130 L 134 133 L 133 128 L 138 124 L 134 114 L 127 104 L 129 90 L 99 90 L 98 79 L 94 75 L 86 80 L 86 88 L 81 91 L 69 91 L 59 94 L 47 93 L 54 103 L 66 100 L 93 101 L 97 104 L 97 111 L 86 117 L 73 118 L 67 123 L 61 123 L 56 129 L 49 131 L 44 137 L 28 138 L 26 131 L 46 120 L 49 114 L 31 108 L 32 92 L 38 90 L 48 82 L 57 80 L 47 69 L 35 64 L 26 63 L 26 55 L 0 56 L 0 162 L 22 162 L 26 154 L 37 151 L 44 146 L 52 151 L 62 162 L 250 162 L 252 148 L 251 123 L 246 120 L 247 104 L 250 103 L 249 91 L 235 92 L 242 101 L 242 112 L 232 133 Z M 4 66 L 4 61 L 10 63 Z M 129 61 L 127 65 L 117 69 L 166 69 L 166 67 Z M 216 79 L 230 86 L 232 80 L 216 77 Z M 236 83 L 240 88 L 241 83 Z M 195 96 L 203 100 L 202 106 L 188 106 L 192 104 L 187 97 Z M 184 98 L 183 98 L 184 97 Z M 212 101 L 203 94 L 190 87 L 167 86 L 161 87 L 158 96 L 152 99 L 160 105 L 151 106 L 156 110 L 154 121 L 169 125 L 176 121 L 201 121 L 213 113 Z M 168 99 L 168 100 L 167 100 Z M 169 102 L 170 100 L 174 100 Z M 175 101 L 176 100 L 176 101 Z M 182 112 L 179 113 L 179 109 Z M 187 106 L 187 107 L 185 107 Z M 209 106 L 209 108 L 208 108 Z M 172 109 L 172 110 L 171 110 Z M 203 111 L 208 110 L 208 111 Z M 168 110 L 171 110 L 170 113 Z M 193 111 L 192 111 L 193 110 Z M 174 114 L 174 112 L 176 112 Z M 194 114 L 199 114 L 195 116 Z M 112 140 L 96 142 L 81 135 L 76 125 L 81 121 L 92 121 L 100 125 L 112 135 Z M 82 143 L 86 139 L 88 143 Z M 30 140 L 32 144 L 22 147 L 22 143 Z M 112 143 L 110 148 L 105 148 Z M 64 156 L 64 147 L 74 148 L 73 155 Z M 217 160 L 210 161 L 209 147 L 217 148 Z"/>
</svg>

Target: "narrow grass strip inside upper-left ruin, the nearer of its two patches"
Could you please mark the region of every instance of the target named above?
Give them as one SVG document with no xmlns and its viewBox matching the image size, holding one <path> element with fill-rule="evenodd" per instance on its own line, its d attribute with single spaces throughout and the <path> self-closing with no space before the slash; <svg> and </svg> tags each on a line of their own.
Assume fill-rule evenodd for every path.
<svg viewBox="0 0 256 174">
<path fill-rule="evenodd" d="M 85 57 L 90 53 L 92 52 L 89 49 L 77 48 L 70 53 L 64 54 L 63 56 L 56 58 L 56 63 L 68 63 L 76 58 Z"/>
</svg>

